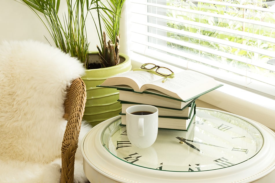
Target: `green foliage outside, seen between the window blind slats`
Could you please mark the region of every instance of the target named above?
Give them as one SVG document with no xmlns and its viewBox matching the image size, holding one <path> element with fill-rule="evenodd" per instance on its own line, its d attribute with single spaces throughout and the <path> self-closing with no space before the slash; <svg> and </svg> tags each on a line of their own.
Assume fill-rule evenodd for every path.
<svg viewBox="0 0 275 183">
<path fill-rule="evenodd" d="M 219 1 L 221 2 L 221 1 Z M 251 1 L 240 1 L 240 0 L 223 0 L 223 2 L 227 3 L 234 3 L 234 4 L 248 4 Z M 195 2 L 194 2 L 195 3 Z M 178 7 L 178 8 L 190 8 L 190 10 L 197 10 L 197 11 L 203 11 L 203 12 L 208 12 L 208 13 L 213 13 L 213 14 L 219 14 L 219 15 L 228 15 L 228 16 L 233 16 L 233 17 L 239 17 L 239 18 L 246 18 L 246 19 L 253 19 L 255 21 L 262 21 L 262 22 L 267 22 L 267 23 L 274 23 L 275 22 L 275 13 L 272 12 L 262 12 L 262 11 L 257 11 L 257 10 L 248 10 L 248 9 L 241 9 L 238 7 L 233 7 L 233 6 L 225 6 L 225 5 L 218 5 L 218 4 L 210 4 L 210 3 L 202 3 L 202 2 L 197 2 L 197 4 L 194 4 L 191 1 L 183 1 L 183 0 L 170 0 L 168 1 L 167 5 L 173 6 L 173 7 Z M 258 6 L 263 7 L 265 3 L 262 1 L 257 1 Z M 268 8 L 268 7 L 267 7 Z M 167 16 L 174 17 L 177 19 L 182 19 L 186 21 L 194 21 L 194 22 L 200 22 L 204 23 L 207 25 L 214 25 L 218 27 L 224 27 L 227 29 L 231 30 L 238 30 L 238 31 L 243 31 L 243 32 L 249 32 L 253 34 L 258 34 L 262 36 L 267 36 L 271 38 L 275 38 L 275 31 L 272 28 L 268 27 L 256 27 L 254 25 L 253 27 L 249 26 L 247 23 L 242 23 L 239 21 L 232 21 L 229 19 L 222 19 L 219 17 L 214 17 L 214 16 L 206 16 L 206 15 L 198 15 L 194 13 L 189 13 L 189 12 L 178 12 L 177 10 L 167 10 Z M 218 38 L 222 40 L 227 40 L 227 41 L 232 41 L 236 43 L 240 43 L 244 45 L 244 49 L 239 49 L 235 47 L 231 47 L 228 45 L 222 45 L 218 44 L 216 42 L 211 42 L 203 39 L 198 39 L 195 37 L 188 37 L 185 35 L 181 34 L 175 34 L 171 32 L 167 32 L 167 37 L 177 39 L 177 40 L 182 40 L 184 42 L 190 42 L 192 44 L 197 44 L 200 46 L 204 46 L 207 48 L 211 48 L 214 50 L 218 51 L 223 51 L 225 53 L 230 53 L 234 54 L 236 56 L 241 56 L 244 57 L 244 60 L 246 58 L 252 59 L 253 62 L 261 62 L 265 64 L 269 59 L 272 59 L 269 56 L 265 56 L 262 54 L 254 53 L 247 51 L 245 48 L 248 46 L 268 50 L 268 51 L 273 51 L 275 53 L 275 44 L 272 42 L 265 42 L 261 40 L 256 40 L 253 39 L 252 37 L 250 39 L 247 39 L 245 37 L 241 36 L 236 36 L 234 34 L 225 33 L 225 32 L 219 32 L 215 31 L 212 29 L 207 29 L 207 28 L 200 28 L 195 25 L 191 24 L 184 24 L 184 23 L 179 23 L 176 21 L 168 21 L 167 22 L 167 27 L 171 27 L 174 29 L 179 29 L 191 33 L 197 33 L 201 34 L 204 36 L 209 36 L 212 38 Z M 237 67 L 239 69 L 251 69 L 251 70 L 262 70 L 260 72 L 264 72 L 265 69 L 261 68 L 256 68 L 255 66 L 251 64 L 246 64 L 244 62 L 239 62 L 236 60 L 232 60 L 229 58 L 225 58 L 223 56 L 219 56 L 213 53 L 208 53 L 204 51 L 200 51 L 198 49 L 192 49 L 190 47 L 185 47 L 182 45 L 177 45 L 172 42 L 167 42 L 167 46 L 173 49 L 181 50 L 186 53 L 192 53 L 193 55 L 200 55 L 203 58 L 208 58 L 210 60 L 220 62 L 222 64 L 228 64 L 230 66 Z M 197 62 L 195 60 L 192 60 L 193 62 Z M 256 71 L 252 71 L 256 72 Z M 265 71 L 266 73 L 261 75 L 269 75 L 270 77 L 270 72 Z M 273 76 L 275 76 L 275 73 L 272 73 Z"/>
</svg>

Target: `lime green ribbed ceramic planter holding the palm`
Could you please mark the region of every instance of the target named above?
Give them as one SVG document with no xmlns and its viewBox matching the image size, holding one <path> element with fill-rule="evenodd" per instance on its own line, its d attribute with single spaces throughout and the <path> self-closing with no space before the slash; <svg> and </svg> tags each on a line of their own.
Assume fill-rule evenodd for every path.
<svg viewBox="0 0 275 183">
<path fill-rule="evenodd" d="M 90 54 L 92 57 L 92 55 L 97 55 L 98 53 L 91 52 Z M 117 116 L 121 112 L 121 104 L 117 101 L 119 91 L 113 88 L 96 87 L 102 84 L 108 77 L 131 70 L 132 66 L 129 56 L 123 53 L 119 55 L 120 64 L 101 69 L 88 69 L 82 77 L 87 91 L 83 119 L 88 121 L 92 126 Z"/>
</svg>

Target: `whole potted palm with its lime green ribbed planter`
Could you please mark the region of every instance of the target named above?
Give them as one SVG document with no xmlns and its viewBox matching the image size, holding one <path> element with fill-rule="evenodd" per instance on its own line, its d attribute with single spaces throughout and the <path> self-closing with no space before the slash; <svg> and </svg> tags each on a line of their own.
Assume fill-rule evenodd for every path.
<svg viewBox="0 0 275 183">
<path fill-rule="evenodd" d="M 82 77 L 87 88 L 83 119 L 96 125 L 118 115 L 121 110 L 117 101 L 118 91 L 96 86 L 110 76 L 131 70 L 130 58 L 119 53 L 119 23 L 125 0 L 105 0 L 107 4 L 100 0 L 66 0 L 67 12 L 62 16 L 58 13 L 60 0 L 22 1 L 41 19 L 56 47 L 77 57 L 86 68 L 86 75 Z M 100 40 L 97 52 L 89 51 L 85 27 L 87 16 L 92 15 L 92 11 L 97 12 L 98 18 L 95 21 L 92 17 Z M 110 41 L 107 41 L 106 35 Z M 116 35 L 115 40 L 111 35 Z M 94 67 L 96 63 L 100 66 Z"/>
</svg>

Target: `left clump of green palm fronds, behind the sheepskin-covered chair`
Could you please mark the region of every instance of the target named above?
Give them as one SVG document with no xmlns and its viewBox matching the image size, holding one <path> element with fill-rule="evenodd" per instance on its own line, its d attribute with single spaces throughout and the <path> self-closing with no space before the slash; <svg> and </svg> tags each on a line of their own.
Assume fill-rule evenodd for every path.
<svg viewBox="0 0 275 183">
<path fill-rule="evenodd" d="M 22 1 L 43 22 L 56 47 L 69 53 L 72 57 L 77 57 L 87 69 L 89 43 L 85 28 L 87 13 L 84 13 L 84 10 L 85 6 L 87 6 L 86 9 L 89 8 L 89 0 L 77 0 L 75 3 L 72 0 L 67 0 L 67 13 L 62 15 L 63 22 L 58 16 L 60 0 Z M 45 21 L 36 11 L 43 14 Z M 49 42 L 47 38 L 46 40 Z"/>
</svg>

